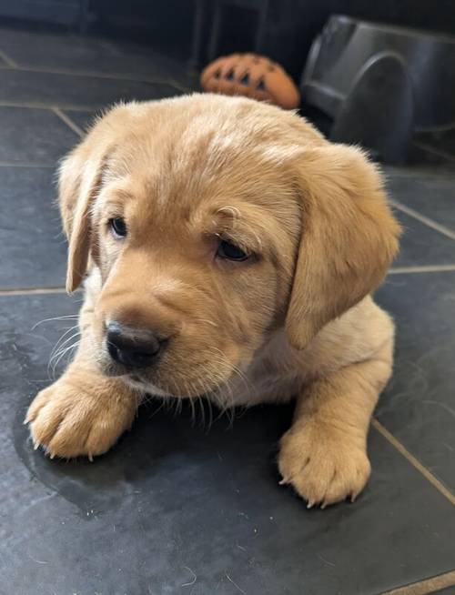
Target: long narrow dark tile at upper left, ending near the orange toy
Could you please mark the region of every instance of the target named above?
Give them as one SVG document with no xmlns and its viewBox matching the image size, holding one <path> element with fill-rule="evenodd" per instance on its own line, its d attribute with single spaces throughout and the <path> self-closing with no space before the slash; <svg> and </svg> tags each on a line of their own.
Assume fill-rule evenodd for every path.
<svg viewBox="0 0 455 595">
<path fill-rule="evenodd" d="M 122 99 L 160 99 L 181 92 L 166 84 L 96 76 L 0 70 L 0 102 L 45 104 L 93 110 Z"/>
</svg>

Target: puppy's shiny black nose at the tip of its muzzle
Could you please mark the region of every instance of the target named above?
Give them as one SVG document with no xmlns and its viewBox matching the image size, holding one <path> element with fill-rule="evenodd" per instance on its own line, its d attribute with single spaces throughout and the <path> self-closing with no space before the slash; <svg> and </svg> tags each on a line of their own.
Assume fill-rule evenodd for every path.
<svg viewBox="0 0 455 595">
<path fill-rule="evenodd" d="M 126 368 L 147 368 L 163 344 L 151 331 L 111 322 L 107 326 L 107 350 L 111 358 Z"/>
</svg>

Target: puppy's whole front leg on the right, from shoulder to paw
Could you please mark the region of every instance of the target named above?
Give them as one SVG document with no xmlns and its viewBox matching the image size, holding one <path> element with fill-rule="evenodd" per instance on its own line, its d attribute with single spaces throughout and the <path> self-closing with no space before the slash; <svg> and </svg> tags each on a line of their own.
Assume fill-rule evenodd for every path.
<svg viewBox="0 0 455 595">
<path fill-rule="evenodd" d="M 369 421 L 391 361 L 390 341 L 374 358 L 316 380 L 298 397 L 278 465 L 283 483 L 291 484 L 308 508 L 353 500 L 365 487 Z"/>
</svg>

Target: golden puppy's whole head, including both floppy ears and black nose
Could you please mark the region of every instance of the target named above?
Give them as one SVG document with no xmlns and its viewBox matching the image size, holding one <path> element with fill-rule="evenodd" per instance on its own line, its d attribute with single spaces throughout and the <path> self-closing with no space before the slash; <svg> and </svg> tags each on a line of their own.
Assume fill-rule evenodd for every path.
<svg viewBox="0 0 455 595">
<path fill-rule="evenodd" d="M 305 348 L 379 285 L 397 249 L 374 166 L 241 98 L 114 108 L 64 162 L 67 288 L 88 259 L 107 375 L 150 392 L 216 391 L 285 327 Z"/>
</svg>

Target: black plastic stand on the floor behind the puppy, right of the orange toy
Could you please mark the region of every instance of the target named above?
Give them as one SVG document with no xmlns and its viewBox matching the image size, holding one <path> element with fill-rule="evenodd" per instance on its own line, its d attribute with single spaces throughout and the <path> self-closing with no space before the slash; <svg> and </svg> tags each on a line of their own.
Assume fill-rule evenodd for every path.
<svg viewBox="0 0 455 595">
<path fill-rule="evenodd" d="M 301 91 L 333 118 L 332 140 L 403 161 L 413 131 L 455 120 L 455 37 L 333 15 L 311 46 Z"/>
</svg>

